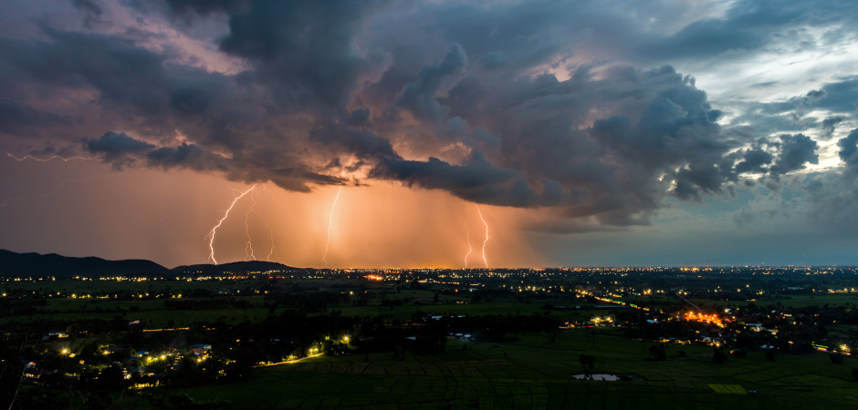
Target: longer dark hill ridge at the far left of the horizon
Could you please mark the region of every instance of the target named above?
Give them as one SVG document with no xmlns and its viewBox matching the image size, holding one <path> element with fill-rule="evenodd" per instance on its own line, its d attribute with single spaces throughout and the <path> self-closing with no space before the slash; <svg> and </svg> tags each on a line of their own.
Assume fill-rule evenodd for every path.
<svg viewBox="0 0 858 410">
<path fill-rule="evenodd" d="M 169 274 L 153 261 L 129 259 L 107 261 L 94 256 L 74 258 L 56 253 L 45 255 L 0 250 L 0 276 L 130 276 Z"/>
</svg>

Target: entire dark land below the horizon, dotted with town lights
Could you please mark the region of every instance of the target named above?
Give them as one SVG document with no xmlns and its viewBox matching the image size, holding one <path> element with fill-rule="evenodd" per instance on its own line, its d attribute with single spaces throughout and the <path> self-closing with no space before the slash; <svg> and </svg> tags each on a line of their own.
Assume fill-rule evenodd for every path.
<svg viewBox="0 0 858 410">
<path fill-rule="evenodd" d="M 854 408 L 826 269 L 8 277 L 9 408 Z"/>
</svg>

